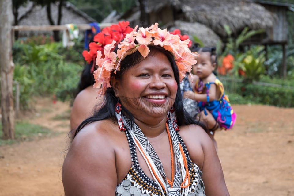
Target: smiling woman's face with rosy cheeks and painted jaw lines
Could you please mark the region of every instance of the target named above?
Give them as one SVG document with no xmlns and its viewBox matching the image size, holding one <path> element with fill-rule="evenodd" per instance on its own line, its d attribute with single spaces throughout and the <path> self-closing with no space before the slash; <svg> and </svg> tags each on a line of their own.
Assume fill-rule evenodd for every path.
<svg viewBox="0 0 294 196">
<path fill-rule="evenodd" d="M 157 50 L 125 71 L 116 86 L 122 105 L 142 121 L 150 117 L 166 118 L 177 93 L 171 63 Z"/>
</svg>

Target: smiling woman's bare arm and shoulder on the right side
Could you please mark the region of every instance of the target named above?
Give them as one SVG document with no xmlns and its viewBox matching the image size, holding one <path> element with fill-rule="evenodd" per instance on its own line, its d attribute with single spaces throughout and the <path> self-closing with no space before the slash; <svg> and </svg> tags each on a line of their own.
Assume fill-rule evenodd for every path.
<svg viewBox="0 0 294 196">
<path fill-rule="evenodd" d="M 229 196 L 216 149 L 208 134 L 198 125 L 180 128 L 191 160 L 202 171 L 206 196 Z"/>
</svg>

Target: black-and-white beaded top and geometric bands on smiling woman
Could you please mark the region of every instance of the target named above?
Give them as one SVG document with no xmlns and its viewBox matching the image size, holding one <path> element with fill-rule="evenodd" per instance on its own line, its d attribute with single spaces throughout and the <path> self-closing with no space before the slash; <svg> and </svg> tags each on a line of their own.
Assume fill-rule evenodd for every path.
<svg viewBox="0 0 294 196">
<path fill-rule="evenodd" d="M 136 139 L 141 143 L 142 146 L 144 146 L 146 152 L 149 153 L 151 159 L 153 160 L 156 168 L 162 175 L 162 177 L 166 180 L 166 175 L 164 173 L 164 169 L 162 167 L 162 164 L 160 162 L 160 159 L 158 158 L 155 150 L 149 143 L 148 139 L 145 137 L 145 135 L 141 132 L 141 129 L 130 119 L 126 117 L 122 117 L 124 121 L 124 126 L 126 128 L 126 136 L 127 140 L 129 142 L 130 146 L 130 152 L 131 152 L 131 159 L 132 159 L 132 167 L 130 168 L 127 176 L 121 182 L 117 188 L 116 188 L 116 195 L 152 195 L 152 196 L 159 196 L 159 195 L 183 195 L 183 190 L 179 189 L 168 189 L 167 191 L 162 192 L 161 186 L 154 181 L 153 179 L 150 179 L 144 171 L 141 169 L 138 159 L 137 159 L 137 152 L 136 152 L 136 145 L 133 139 L 133 136 L 135 134 Z M 185 157 L 187 159 L 187 164 L 188 164 L 188 171 L 189 171 L 189 176 L 190 176 L 190 184 L 188 186 L 188 191 L 185 191 L 185 195 L 196 195 L 196 196 L 205 196 L 204 194 L 204 184 L 201 179 L 202 172 L 199 170 L 199 167 L 193 163 L 190 160 L 189 153 L 187 151 L 186 145 L 184 144 L 182 138 L 180 137 L 179 133 L 175 131 L 173 128 L 172 122 L 167 121 L 168 127 L 169 127 L 169 132 L 173 141 L 173 150 L 175 152 L 175 164 L 176 167 L 179 167 L 179 144 L 183 148 Z M 132 133 L 129 133 L 132 132 Z M 177 168 L 175 172 L 175 177 L 174 177 L 174 183 L 173 183 L 173 188 L 174 187 L 181 187 L 182 183 L 182 176 L 181 176 L 181 171 Z M 127 182 L 125 182 L 127 180 Z M 130 185 L 129 185 L 130 181 Z M 125 183 L 126 186 L 123 186 L 123 183 Z M 166 183 L 167 186 L 169 186 L 168 183 Z M 131 188 L 132 187 L 132 188 Z M 131 188 L 131 189 L 130 189 Z M 134 191 L 136 190 L 136 191 Z M 174 190 L 174 192 L 172 192 Z"/>
</svg>

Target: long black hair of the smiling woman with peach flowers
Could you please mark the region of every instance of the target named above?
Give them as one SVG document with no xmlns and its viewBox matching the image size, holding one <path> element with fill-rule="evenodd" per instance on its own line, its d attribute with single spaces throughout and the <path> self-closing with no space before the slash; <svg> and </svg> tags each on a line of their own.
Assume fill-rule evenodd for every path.
<svg viewBox="0 0 294 196">
<path fill-rule="evenodd" d="M 159 46 L 148 46 L 150 49 L 150 55 L 154 55 L 155 52 L 162 52 L 165 56 L 167 56 L 168 60 L 171 63 L 172 70 L 175 75 L 175 80 L 178 84 L 178 90 L 175 98 L 175 112 L 177 114 L 177 124 L 180 125 L 189 125 L 189 124 L 198 124 L 202 126 L 203 129 L 206 129 L 204 125 L 202 125 L 199 121 L 194 120 L 190 115 L 184 110 L 183 102 L 182 102 L 182 93 L 180 89 L 180 78 L 179 78 L 179 70 L 175 63 L 174 56 L 164 48 L 161 48 Z M 117 51 L 117 48 L 114 52 Z M 148 58 L 148 57 L 147 57 Z M 143 57 L 141 56 L 140 52 L 136 51 L 133 54 L 130 54 L 122 60 L 120 64 L 120 70 L 116 72 L 116 74 L 112 74 L 115 78 L 119 79 L 122 74 L 128 70 L 130 67 L 133 67 L 137 63 L 141 62 L 143 60 Z M 94 121 L 100 121 L 104 119 L 111 119 L 113 122 L 117 121 L 115 116 L 115 105 L 117 103 L 117 98 L 115 97 L 115 92 L 112 88 L 108 88 L 104 95 L 105 103 L 104 105 L 98 110 L 95 111 L 92 117 L 87 118 L 84 120 L 75 131 L 74 137 L 77 135 L 77 133 L 85 126 L 88 125 L 91 122 Z M 126 115 L 127 117 L 134 119 L 132 114 L 126 110 L 122 105 L 122 113 Z"/>
</svg>

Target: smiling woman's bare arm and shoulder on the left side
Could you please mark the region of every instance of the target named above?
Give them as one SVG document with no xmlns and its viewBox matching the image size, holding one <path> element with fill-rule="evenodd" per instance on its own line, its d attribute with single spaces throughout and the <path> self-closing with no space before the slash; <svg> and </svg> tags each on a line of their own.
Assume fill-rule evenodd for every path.
<svg viewBox="0 0 294 196">
<path fill-rule="evenodd" d="M 107 130 L 99 130 L 93 124 L 77 134 L 64 160 L 62 183 L 65 196 L 115 195 L 114 148 Z"/>
</svg>

